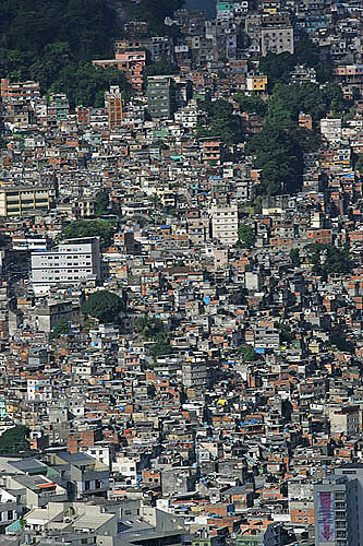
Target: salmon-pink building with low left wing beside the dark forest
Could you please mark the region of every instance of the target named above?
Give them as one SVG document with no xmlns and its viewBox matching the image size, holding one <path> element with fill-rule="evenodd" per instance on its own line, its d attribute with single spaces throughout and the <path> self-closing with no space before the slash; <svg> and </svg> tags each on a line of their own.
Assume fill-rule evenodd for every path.
<svg viewBox="0 0 363 546">
<path fill-rule="evenodd" d="M 120 51 L 114 59 L 92 61 L 94 67 L 117 67 L 125 73 L 134 90 L 143 86 L 143 72 L 146 64 L 146 51 Z"/>
</svg>

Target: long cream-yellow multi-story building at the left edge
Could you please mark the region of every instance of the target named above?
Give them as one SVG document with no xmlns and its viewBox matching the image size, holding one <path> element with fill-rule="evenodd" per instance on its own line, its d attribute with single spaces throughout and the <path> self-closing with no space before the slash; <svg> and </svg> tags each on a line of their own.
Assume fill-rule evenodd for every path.
<svg viewBox="0 0 363 546">
<path fill-rule="evenodd" d="M 41 186 L 7 186 L 0 188 L 0 216 L 29 216 L 49 211 L 55 190 Z"/>
</svg>

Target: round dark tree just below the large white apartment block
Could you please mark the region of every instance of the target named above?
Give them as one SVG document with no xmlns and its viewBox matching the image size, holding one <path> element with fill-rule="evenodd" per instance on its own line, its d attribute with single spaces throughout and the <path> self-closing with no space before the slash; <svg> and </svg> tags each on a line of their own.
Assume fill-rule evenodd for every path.
<svg viewBox="0 0 363 546">
<path fill-rule="evenodd" d="M 81 310 L 100 322 L 113 322 L 123 309 L 123 300 L 109 290 L 94 292 L 82 304 Z"/>
</svg>

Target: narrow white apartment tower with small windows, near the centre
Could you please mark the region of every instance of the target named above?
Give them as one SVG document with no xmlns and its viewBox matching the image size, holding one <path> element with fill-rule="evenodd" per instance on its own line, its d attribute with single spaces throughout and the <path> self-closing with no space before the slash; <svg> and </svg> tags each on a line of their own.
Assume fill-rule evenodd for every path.
<svg viewBox="0 0 363 546">
<path fill-rule="evenodd" d="M 238 240 L 239 212 L 237 203 L 225 206 L 211 205 L 213 238 L 221 245 L 234 245 Z"/>
</svg>

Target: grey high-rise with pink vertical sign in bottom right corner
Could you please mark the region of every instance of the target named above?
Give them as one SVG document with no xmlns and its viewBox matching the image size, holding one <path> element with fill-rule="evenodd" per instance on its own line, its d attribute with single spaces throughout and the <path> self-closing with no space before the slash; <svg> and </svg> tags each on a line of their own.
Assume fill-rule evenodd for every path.
<svg viewBox="0 0 363 546">
<path fill-rule="evenodd" d="M 315 546 L 360 546 L 359 480 L 330 475 L 314 486 Z"/>
</svg>

